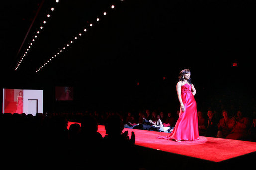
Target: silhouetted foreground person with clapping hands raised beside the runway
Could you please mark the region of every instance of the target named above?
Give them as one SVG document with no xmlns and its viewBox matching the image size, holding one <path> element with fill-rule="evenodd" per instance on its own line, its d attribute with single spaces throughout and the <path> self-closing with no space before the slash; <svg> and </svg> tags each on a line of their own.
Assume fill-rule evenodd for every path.
<svg viewBox="0 0 256 170">
<path fill-rule="evenodd" d="M 137 153 L 134 147 L 134 132 L 132 132 L 131 137 L 129 137 L 128 131 L 122 133 L 124 125 L 117 115 L 108 117 L 105 123 L 105 129 L 107 134 L 103 139 L 103 153 L 105 153 L 105 158 L 101 161 L 104 168 L 115 170 L 130 169 L 130 167 L 125 164 L 124 155 L 128 158 L 134 158 L 133 166 L 137 166 L 136 162 L 138 159 L 136 158 Z"/>
</svg>

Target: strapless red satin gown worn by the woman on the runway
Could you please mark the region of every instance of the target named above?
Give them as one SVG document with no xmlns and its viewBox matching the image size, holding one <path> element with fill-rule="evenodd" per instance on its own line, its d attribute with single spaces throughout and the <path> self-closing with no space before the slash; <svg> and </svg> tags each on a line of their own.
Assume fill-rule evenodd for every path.
<svg viewBox="0 0 256 170">
<path fill-rule="evenodd" d="M 180 110 L 179 119 L 170 135 L 157 137 L 159 139 L 199 140 L 197 108 L 191 85 L 181 86 L 181 99 L 185 112 Z"/>
</svg>

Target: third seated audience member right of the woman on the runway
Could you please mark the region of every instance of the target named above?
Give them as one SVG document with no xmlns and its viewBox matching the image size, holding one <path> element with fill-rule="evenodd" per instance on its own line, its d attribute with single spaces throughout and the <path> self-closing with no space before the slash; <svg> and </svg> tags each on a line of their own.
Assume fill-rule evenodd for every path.
<svg viewBox="0 0 256 170">
<path fill-rule="evenodd" d="M 226 110 L 222 111 L 223 118 L 220 119 L 218 123 L 218 138 L 226 138 L 230 134 L 233 124 L 232 119 L 229 118 L 228 112 Z"/>
</svg>

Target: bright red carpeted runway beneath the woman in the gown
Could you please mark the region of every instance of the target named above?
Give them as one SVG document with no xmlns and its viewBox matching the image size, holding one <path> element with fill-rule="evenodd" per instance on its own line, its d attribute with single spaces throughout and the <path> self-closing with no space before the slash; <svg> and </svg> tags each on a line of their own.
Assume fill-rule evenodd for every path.
<svg viewBox="0 0 256 170">
<path fill-rule="evenodd" d="M 205 159 L 214 162 L 224 161 L 256 151 L 256 142 L 221 139 L 200 136 L 198 141 L 175 142 L 167 139 L 157 139 L 157 136 L 166 135 L 162 132 L 127 129 L 129 135 L 135 132 L 135 144 L 175 154 Z M 98 126 L 98 132 L 105 136 L 104 126 Z"/>
</svg>

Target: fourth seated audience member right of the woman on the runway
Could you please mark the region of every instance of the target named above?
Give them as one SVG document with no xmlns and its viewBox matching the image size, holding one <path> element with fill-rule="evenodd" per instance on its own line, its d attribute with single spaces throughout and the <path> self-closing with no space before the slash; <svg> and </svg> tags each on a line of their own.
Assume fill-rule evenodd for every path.
<svg viewBox="0 0 256 170">
<path fill-rule="evenodd" d="M 244 140 L 248 137 L 248 128 L 250 122 L 243 116 L 241 111 L 237 112 L 237 117 L 232 117 L 232 131 L 226 139 Z"/>
</svg>

